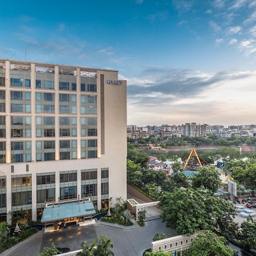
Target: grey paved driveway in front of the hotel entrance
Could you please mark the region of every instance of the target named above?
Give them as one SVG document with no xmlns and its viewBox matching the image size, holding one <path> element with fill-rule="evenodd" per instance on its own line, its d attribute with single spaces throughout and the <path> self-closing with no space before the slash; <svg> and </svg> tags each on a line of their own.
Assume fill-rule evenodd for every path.
<svg viewBox="0 0 256 256">
<path fill-rule="evenodd" d="M 173 236 L 174 230 L 166 228 L 161 219 L 147 221 L 143 228 L 133 229 L 114 228 L 100 223 L 81 227 L 72 225 L 56 232 L 43 233 L 9 255 L 37 256 L 45 246 L 50 246 L 52 242 L 57 247 L 69 247 L 71 251 L 79 250 L 83 241 L 91 243 L 94 238 L 104 234 L 112 240 L 115 255 L 141 256 L 144 250 L 150 248 L 155 233 L 165 233 L 167 236 Z"/>
</svg>

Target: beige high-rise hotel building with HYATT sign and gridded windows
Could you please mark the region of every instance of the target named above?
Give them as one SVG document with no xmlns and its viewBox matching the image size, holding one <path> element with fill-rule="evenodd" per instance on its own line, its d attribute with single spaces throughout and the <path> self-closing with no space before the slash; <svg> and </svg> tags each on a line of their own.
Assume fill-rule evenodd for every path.
<svg viewBox="0 0 256 256">
<path fill-rule="evenodd" d="M 126 199 L 126 81 L 118 72 L 0 59 L 0 222 L 47 201 Z"/>
</svg>

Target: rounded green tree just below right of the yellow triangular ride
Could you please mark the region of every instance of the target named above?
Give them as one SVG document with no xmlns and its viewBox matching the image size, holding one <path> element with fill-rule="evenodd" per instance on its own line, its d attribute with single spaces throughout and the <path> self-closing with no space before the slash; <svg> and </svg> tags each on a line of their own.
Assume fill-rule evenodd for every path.
<svg viewBox="0 0 256 256">
<path fill-rule="evenodd" d="M 221 185 L 220 173 L 214 167 L 200 168 L 192 177 L 192 187 L 216 192 Z"/>
</svg>

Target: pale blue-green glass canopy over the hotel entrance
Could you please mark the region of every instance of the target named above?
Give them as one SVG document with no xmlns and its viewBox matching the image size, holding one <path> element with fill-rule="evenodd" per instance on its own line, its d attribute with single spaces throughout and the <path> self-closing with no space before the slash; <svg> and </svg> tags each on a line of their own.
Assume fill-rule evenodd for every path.
<svg viewBox="0 0 256 256">
<path fill-rule="evenodd" d="M 92 216 L 92 214 L 95 213 L 92 201 L 90 200 L 65 201 L 60 204 L 55 203 L 46 205 L 41 221 L 53 222 L 64 220 L 65 218 Z"/>
</svg>

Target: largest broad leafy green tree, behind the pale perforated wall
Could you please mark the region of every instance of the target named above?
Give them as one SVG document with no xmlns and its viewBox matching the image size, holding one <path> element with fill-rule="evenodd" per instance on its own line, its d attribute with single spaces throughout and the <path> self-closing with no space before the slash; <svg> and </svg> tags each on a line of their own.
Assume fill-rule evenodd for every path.
<svg viewBox="0 0 256 256">
<path fill-rule="evenodd" d="M 223 230 L 233 225 L 236 209 L 228 201 L 193 189 L 175 189 L 160 196 L 162 217 L 179 234 L 202 229 Z"/>
</svg>

